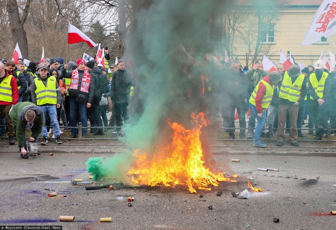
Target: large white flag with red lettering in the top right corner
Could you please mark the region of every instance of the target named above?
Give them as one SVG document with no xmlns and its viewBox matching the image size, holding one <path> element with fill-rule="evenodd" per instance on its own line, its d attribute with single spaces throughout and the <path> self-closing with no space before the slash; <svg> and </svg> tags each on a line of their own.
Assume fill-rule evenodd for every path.
<svg viewBox="0 0 336 230">
<path fill-rule="evenodd" d="M 330 37 L 336 32 L 336 2 L 324 0 L 316 11 L 303 38 L 302 45 L 318 42 L 322 37 Z"/>
</svg>

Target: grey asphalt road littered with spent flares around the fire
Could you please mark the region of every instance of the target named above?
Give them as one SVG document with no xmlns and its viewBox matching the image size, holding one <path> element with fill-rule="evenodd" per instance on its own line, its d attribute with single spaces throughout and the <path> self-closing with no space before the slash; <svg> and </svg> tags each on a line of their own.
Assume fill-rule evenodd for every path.
<svg viewBox="0 0 336 230">
<path fill-rule="evenodd" d="M 34 159 L 0 153 L 0 225 L 62 225 L 63 229 L 335 229 L 335 157 L 228 155 L 217 152 L 213 163 L 241 183 L 221 183 L 212 191 L 191 194 L 184 187 L 121 187 L 86 191 L 85 183 L 71 185 L 71 178 L 88 179 L 85 162 L 97 153 L 47 153 Z M 113 154 L 110 154 L 112 156 Z M 232 158 L 240 163 L 231 162 Z M 249 160 L 248 162 L 246 160 Z M 64 166 L 65 165 L 65 166 Z M 275 171 L 258 171 L 273 167 Z M 247 179 L 263 192 L 250 199 L 232 192 L 247 188 Z M 320 176 L 320 179 L 316 177 Z M 87 183 L 89 184 L 89 183 Z M 222 191 L 221 196 L 216 196 Z M 50 192 L 57 196 L 48 197 Z M 149 193 L 152 193 L 149 195 Z M 200 198 L 200 194 L 203 198 Z M 132 207 L 125 201 L 134 196 Z M 117 197 L 123 197 L 118 200 Z M 208 207 L 212 205 L 213 209 Z M 75 222 L 59 222 L 61 215 Z M 100 223 L 111 217 L 111 223 Z M 272 219 L 277 217 L 279 223 Z"/>
</svg>

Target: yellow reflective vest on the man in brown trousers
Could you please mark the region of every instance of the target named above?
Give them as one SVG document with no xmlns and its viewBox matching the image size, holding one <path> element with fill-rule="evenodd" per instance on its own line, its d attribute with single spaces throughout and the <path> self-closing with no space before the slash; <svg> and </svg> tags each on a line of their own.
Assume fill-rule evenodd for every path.
<svg viewBox="0 0 336 230">
<path fill-rule="evenodd" d="M 290 102 L 297 102 L 300 98 L 303 80 L 304 75 L 300 74 L 292 83 L 292 79 L 286 71 L 284 80 L 282 81 L 282 86 L 279 90 L 279 97 L 287 99 Z"/>
</svg>

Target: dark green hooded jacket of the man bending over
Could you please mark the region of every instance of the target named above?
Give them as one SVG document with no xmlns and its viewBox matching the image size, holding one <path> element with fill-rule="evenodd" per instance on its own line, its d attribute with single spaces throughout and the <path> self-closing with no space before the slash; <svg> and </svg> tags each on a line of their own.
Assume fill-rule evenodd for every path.
<svg viewBox="0 0 336 230">
<path fill-rule="evenodd" d="M 27 110 L 34 110 L 36 115 L 34 119 L 34 125 L 31 128 L 31 137 L 36 139 L 40 135 L 44 123 L 43 113 L 40 107 L 34 105 L 31 102 L 22 102 L 15 105 L 9 113 L 9 117 L 12 120 L 14 126 L 16 126 L 16 138 L 19 148 L 25 146 L 25 139 L 23 134 L 25 132 L 25 126 L 27 125 L 25 118 Z"/>
</svg>

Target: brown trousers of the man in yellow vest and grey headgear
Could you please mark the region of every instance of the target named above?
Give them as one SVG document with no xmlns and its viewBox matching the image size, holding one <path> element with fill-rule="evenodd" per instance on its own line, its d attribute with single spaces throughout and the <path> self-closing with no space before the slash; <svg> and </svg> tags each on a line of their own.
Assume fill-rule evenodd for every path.
<svg viewBox="0 0 336 230">
<path fill-rule="evenodd" d="M 289 140 L 291 143 L 297 142 L 297 112 L 299 111 L 299 106 L 292 103 L 280 101 L 278 108 L 278 130 L 277 130 L 277 139 L 278 141 L 283 142 L 285 140 L 285 122 L 287 114 L 289 114 L 289 120 L 291 123 L 291 128 L 289 131 Z"/>
</svg>

